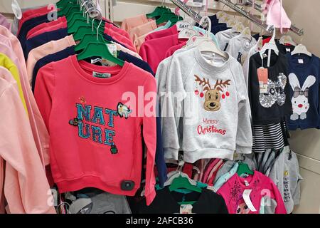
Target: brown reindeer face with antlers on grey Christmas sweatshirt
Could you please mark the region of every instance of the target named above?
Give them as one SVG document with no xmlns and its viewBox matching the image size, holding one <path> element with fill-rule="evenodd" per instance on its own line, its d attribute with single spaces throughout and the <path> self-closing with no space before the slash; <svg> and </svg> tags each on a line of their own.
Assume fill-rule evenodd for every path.
<svg viewBox="0 0 320 228">
<path fill-rule="evenodd" d="M 230 80 L 223 81 L 223 80 L 217 80 L 215 82 L 215 86 L 211 88 L 209 78 L 203 78 L 201 79 L 199 76 L 196 76 L 196 83 L 198 83 L 200 86 L 203 87 L 203 91 L 206 92 L 205 95 L 205 102 L 203 103 L 203 108 L 209 112 L 215 112 L 220 110 L 221 108 L 221 97 L 224 99 L 225 94 L 223 93 L 223 90 L 230 86 Z M 221 95 L 221 93 L 223 93 Z M 229 93 L 226 93 L 227 96 L 229 96 Z"/>
</svg>

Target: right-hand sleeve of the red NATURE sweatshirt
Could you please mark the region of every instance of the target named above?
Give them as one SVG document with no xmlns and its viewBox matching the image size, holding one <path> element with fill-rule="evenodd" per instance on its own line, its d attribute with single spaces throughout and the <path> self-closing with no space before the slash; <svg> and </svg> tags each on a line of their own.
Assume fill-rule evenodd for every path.
<svg viewBox="0 0 320 228">
<path fill-rule="evenodd" d="M 156 197 L 156 178 L 154 160 L 156 154 L 156 80 L 153 76 L 144 83 L 143 137 L 146 144 L 146 204 L 149 205 Z"/>
</svg>

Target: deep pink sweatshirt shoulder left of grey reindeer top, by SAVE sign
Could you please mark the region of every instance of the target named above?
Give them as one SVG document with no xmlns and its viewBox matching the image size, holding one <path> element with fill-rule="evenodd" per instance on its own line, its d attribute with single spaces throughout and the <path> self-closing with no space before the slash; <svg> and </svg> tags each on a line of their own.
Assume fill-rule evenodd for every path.
<svg viewBox="0 0 320 228">
<path fill-rule="evenodd" d="M 156 72 L 159 63 L 166 58 L 166 51 L 172 46 L 183 42 L 186 42 L 186 39 L 178 39 L 178 33 L 162 38 L 154 38 L 142 44 L 139 55 L 149 63 L 152 71 Z"/>
</svg>

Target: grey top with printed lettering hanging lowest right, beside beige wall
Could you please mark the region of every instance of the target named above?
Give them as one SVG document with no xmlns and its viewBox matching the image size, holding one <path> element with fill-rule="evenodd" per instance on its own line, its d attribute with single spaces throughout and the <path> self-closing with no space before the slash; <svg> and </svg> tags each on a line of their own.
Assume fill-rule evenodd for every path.
<svg viewBox="0 0 320 228">
<path fill-rule="evenodd" d="M 277 185 L 287 213 L 291 213 L 294 205 L 300 202 L 300 181 L 302 176 L 299 173 L 297 155 L 292 151 L 290 152 L 289 147 L 284 147 L 274 165 L 267 170 L 266 175 Z"/>
</svg>

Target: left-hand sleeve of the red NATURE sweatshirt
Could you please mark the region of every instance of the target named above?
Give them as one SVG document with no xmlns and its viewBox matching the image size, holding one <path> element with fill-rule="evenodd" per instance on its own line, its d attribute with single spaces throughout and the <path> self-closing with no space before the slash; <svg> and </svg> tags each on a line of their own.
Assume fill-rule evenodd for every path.
<svg viewBox="0 0 320 228">
<path fill-rule="evenodd" d="M 34 97 L 36 98 L 36 103 L 38 104 L 44 123 L 47 129 L 49 129 L 49 117 L 52 106 L 51 96 L 55 87 L 53 63 L 49 63 L 38 71 L 36 84 Z"/>
</svg>

